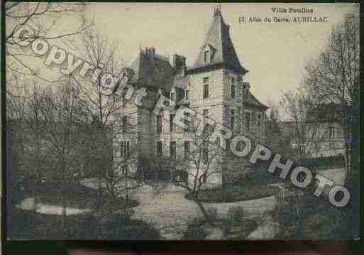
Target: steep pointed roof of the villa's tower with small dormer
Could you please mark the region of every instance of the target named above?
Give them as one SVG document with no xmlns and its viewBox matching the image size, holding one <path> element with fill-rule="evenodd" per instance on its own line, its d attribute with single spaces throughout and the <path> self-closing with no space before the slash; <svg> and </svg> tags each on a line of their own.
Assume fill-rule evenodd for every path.
<svg viewBox="0 0 364 255">
<path fill-rule="evenodd" d="M 233 42 L 229 35 L 229 28 L 230 26 L 224 23 L 224 18 L 221 16 L 220 9 L 215 9 L 213 21 L 206 33 L 197 60 L 189 70 L 211 67 L 212 65 L 222 65 L 231 70 L 235 70 L 241 75 L 248 72 L 238 60 L 238 55 L 236 54 Z M 211 53 L 209 63 L 204 63 L 204 50 L 206 47 L 214 49 L 213 53 Z"/>
</svg>

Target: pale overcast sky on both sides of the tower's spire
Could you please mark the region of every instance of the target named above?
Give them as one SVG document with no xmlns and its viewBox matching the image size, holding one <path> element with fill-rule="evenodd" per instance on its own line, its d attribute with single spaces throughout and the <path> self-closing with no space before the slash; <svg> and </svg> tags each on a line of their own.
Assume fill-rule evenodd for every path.
<svg viewBox="0 0 364 255">
<path fill-rule="evenodd" d="M 90 3 L 89 15 L 111 40 L 117 40 L 126 63 L 139 45 L 155 46 L 157 53 L 178 53 L 192 65 L 212 21 L 214 4 L 99 4 Z M 272 7 L 306 7 L 314 13 L 273 14 Z M 299 85 L 302 65 L 324 47 L 331 27 L 353 4 L 221 4 L 238 57 L 249 70 L 253 93 L 263 103 L 276 102 L 281 90 Z M 239 23 L 239 16 L 326 16 L 327 23 Z"/>
</svg>

